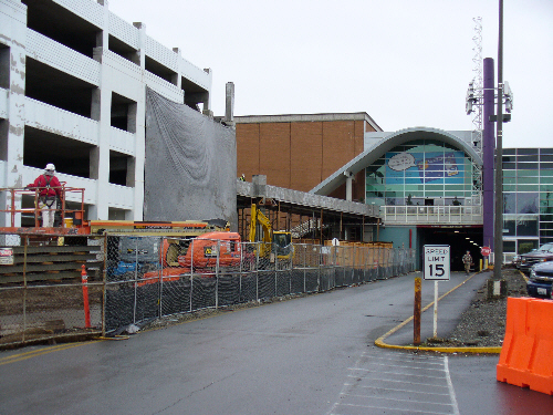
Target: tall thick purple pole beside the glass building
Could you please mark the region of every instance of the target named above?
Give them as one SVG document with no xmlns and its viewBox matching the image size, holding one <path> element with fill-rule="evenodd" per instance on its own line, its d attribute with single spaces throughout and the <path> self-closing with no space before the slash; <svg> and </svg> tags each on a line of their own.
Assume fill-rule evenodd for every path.
<svg viewBox="0 0 553 415">
<path fill-rule="evenodd" d="M 495 153 L 495 123 L 490 121 L 493 115 L 495 81 L 493 76 L 493 59 L 483 60 L 483 241 L 482 245 L 490 247 L 493 251 L 493 170 Z"/>
</svg>

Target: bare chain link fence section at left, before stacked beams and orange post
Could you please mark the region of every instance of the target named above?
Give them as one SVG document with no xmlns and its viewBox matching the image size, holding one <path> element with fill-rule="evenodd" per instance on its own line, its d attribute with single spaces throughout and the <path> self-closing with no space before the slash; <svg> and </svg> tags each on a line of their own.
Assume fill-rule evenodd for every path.
<svg viewBox="0 0 553 415">
<path fill-rule="evenodd" d="M 0 238 L 0 346 L 102 333 L 104 238 Z"/>
</svg>

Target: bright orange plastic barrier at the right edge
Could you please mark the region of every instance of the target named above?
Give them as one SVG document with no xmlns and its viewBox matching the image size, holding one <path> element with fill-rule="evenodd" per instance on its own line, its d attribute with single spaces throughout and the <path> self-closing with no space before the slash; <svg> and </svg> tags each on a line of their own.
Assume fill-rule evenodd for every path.
<svg viewBox="0 0 553 415">
<path fill-rule="evenodd" d="M 507 300 L 497 380 L 553 395 L 553 301 Z"/>
</svg>

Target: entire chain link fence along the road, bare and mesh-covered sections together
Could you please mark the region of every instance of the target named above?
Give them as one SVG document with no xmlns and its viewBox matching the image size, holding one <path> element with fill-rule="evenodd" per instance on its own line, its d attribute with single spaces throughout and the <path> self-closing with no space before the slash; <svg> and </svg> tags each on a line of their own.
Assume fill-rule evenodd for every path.
<svg viewBox="0 0 553 415">
<path fill-rule="evenodd" d="M 233 237 L 236 236 L 236 237 Z M 221 239 L 1 236 L 0 346 L 118 334 L 166 315 L 408 273 L 411 249 Z M 4 252 L 6 253 L 6 252 Z M 8 258 L 8 260 L 6 260 Z M 87 279 L 82 279 L 82 272 Z"/>
</svg>

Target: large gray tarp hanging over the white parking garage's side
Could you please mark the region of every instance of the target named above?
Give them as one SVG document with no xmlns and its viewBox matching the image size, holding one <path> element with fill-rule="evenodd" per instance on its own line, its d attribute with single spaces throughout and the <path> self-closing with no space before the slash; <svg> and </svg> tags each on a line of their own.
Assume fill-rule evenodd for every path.
<svg viewBox="0 0 553 415">
<path fill-rule="evenodd" d="M 226 219 L 237 229 L 236 131 L 146 89 L 144 220 Z"/>
</svg>

